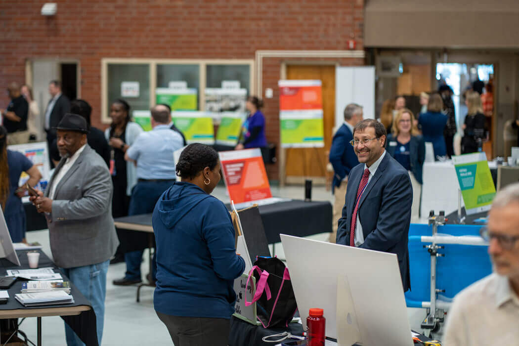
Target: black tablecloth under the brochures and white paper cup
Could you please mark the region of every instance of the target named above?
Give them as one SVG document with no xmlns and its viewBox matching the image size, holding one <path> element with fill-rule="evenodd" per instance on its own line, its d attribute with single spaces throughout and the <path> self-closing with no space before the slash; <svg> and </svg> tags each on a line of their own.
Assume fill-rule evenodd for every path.
<svg viewBox="0 0 519 346">
<path fill-rule="evenodd" d="M 27 258 L 27 251 L 17 251 L 18 258 L 20 259 L 20 267 L 13 265 L 10 261 L 5 258 L 0 259 L 0 275 L 5 276 L 7 269 L 29 269 L 29 260 Z M 39 268 L 52 267 L 54 272 L 59 272 L 63 276 L 63 281 L 70 281 L 65 274 L 54 265 L 50 258 L 45 255 L 42 251 L 39 251 Z M 15 310 L 15 309 L 40 309 L 40 308 L 64 308 L 64 307 L 75 307 L 75 306 L 89 306 L 90 302 L 85 298 L 77 287 L 71 282 L 70 294 L 74 297 L 73 304 L 60 304 L 60 305 L 46 305 L 42 307 L 24 307 L 18 300 L 15 299 L 15 294 L 20 293 L 22 289 L 22 279 L 18 279 L 9 288 L 9 300 L 7 304 L 0 305 L 0 310 Z M 95 325 L 95 313 L 93 309 L 88 311 L 82 311 L 79 315 L 74 316 L 61 316 L 77 334 L 77 336 L 85 342 L 86 345 L 98 346 L 97 339 L 97 328 Z M 63 343 L 65 340 L 63 340 Z"/>
</svg>

